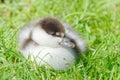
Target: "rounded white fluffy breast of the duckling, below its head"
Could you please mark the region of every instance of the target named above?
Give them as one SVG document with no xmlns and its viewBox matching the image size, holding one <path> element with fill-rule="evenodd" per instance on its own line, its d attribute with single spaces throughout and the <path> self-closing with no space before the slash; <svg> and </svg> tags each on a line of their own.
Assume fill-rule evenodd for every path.
<svg viewBox="0 0 120 80">
<path fill-rule="evenodd" d="M 51 66 L 56 70 L 69 69 L 76 60 L 76 55 L 72 49 L 51 48 L 51 47 L 33 47 L 34 43 L 30 43 L 25 50 L 21 50 L 26 59 L 31 56 L 31 60 L 39 65 Z"/>
</svg>

